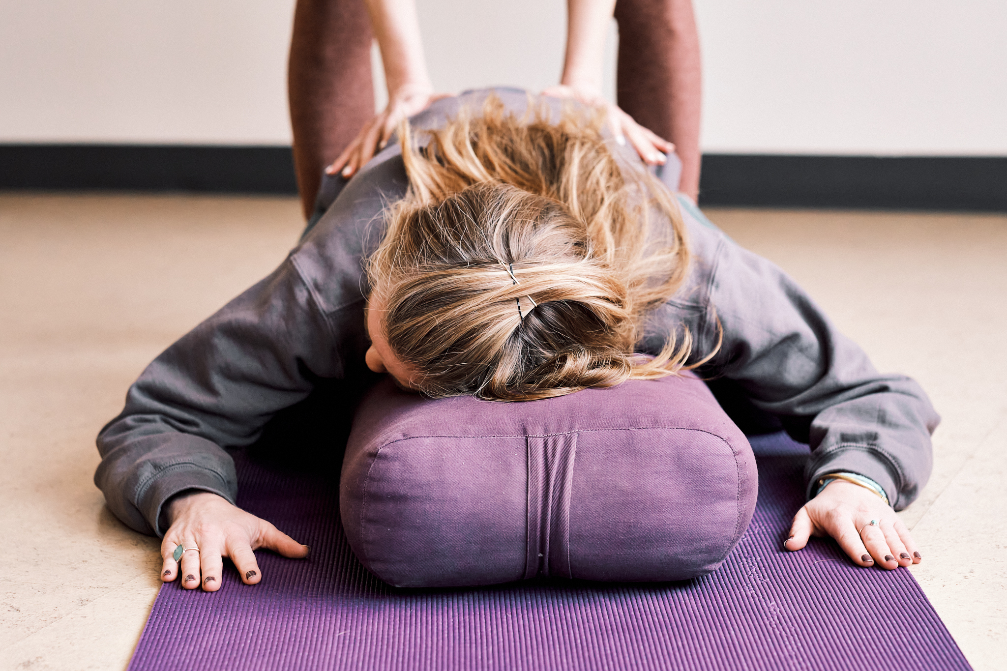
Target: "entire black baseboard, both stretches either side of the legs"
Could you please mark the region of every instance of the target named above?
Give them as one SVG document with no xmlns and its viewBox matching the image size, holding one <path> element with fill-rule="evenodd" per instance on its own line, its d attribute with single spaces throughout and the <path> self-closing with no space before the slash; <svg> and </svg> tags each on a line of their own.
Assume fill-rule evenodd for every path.
<svg viewBox="0 0 1007 671">
<path fill-rule="evenodd" d="M 289 147 L 0 144 L 0 189 L 297 192 Z M 1007 211 L 1007 157 L 706 154 L 704 205 Z"/>
</svg>

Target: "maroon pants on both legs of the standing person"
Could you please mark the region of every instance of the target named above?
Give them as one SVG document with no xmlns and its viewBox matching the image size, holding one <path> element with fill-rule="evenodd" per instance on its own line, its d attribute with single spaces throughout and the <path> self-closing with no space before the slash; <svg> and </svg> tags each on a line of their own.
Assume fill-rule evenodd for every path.
<svg viewBox="0 0 1007 671">
<path fill-rule="evenodd" d="M 618 105 L 675 143 L 680 189 L 699 190 L 700 53 L 692 0 L 618 0 Z M 297 0 L 288 94 L 305 216 L 322 169 L 375 115 L 364 0 Z"/>
</svg>

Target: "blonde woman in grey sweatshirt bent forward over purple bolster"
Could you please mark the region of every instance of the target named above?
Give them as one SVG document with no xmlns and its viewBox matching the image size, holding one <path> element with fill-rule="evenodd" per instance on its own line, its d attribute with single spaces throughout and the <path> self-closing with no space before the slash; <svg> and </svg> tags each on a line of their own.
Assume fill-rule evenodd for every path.
<svg viewBox="0 0 1007 671">
<path fill-rule="evenodd" d="M 786 549 L 830 535 L 861 566 L 919 561 L 893 510 L 929 475 L 939 417 L 919 386 L 878 373 L 779 269 L 680 209 L 602 114 L 548 101 L 473 92 L 414 117 L 272 275 L 133 384 L 95 481 L 126 524 L 163 535 L 163 580 L 211 592 L 222 557 L 253 584 L 254 549 L 306 556 L 234 505 L 223 448 L 320 380 L 363 393 L 364 361 L 429 396 L 508 401 L 686 369 L 733 380 L 807 432 Z M 179 561 L 178 545 L 198 551 Z"/>
</svg>

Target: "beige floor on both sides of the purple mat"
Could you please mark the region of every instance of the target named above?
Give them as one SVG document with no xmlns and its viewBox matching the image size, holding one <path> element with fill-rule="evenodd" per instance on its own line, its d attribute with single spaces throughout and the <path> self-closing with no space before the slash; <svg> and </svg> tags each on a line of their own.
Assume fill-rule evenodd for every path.
<svg viewBox="0 0 1007 671">
<path fill-rule="evenodd" d="M 933 477 L 902 513 L 924 556 L 912 571 L 973 665 L 1005 668 L 1007 215 L 710 216 L 931 394 Z M 0 670 L 126 666 L 158 542 L 104 507 L 94 437 L 144 365 L 300 227 L 291 198 L 0 194 Z"/>
</svg>

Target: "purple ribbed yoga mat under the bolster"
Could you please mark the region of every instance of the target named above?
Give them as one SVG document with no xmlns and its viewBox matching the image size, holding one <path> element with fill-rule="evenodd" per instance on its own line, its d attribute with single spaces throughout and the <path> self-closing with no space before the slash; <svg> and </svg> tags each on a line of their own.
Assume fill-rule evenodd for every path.
<svg viewBox="0 0 1007 671">
<path fill-rule="evenodd" d="M 239 503 L 312 548 L 259 552 L 215 594 L 165 584 L 129 668 L 969 669 L 906 569 L 860 568 L 835 542 L 780 549 L 803 504 L 806 446 L 755 437 L 759 496 L 723 566 L 684 582 L 564 579 L 397 590 L 339 527 L 337 474 L 284 473 L 238 455 Z"/>
</svg>

